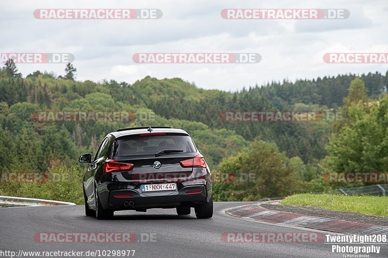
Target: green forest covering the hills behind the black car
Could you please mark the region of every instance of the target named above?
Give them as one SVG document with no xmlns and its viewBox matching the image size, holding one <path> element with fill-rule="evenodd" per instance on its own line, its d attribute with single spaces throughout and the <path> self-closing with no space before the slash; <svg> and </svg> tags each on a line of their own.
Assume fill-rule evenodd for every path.
<svg viewBox="0 0 388 258">
<path fill-rule="evenodd" d="M 0 195 L 81 203 L 85 167 L 79 155 L 94 155 L 107 133 L 137 126 L 186 130 L 214 176 L 255 175 L 249 182 L 215 180 L 216 201 L 329 191 L 344 185 L 330 184 L 324 173 L 384 172 L 388 167 L 388 72 L 273 81 L 225 92 L 180 78 L 147 76 L 133 84 L 77 81 L 76 71 L 67 64 L 64 76 L 35 71 L 23 77 L 12 60 L 0 69 Z M 33 119 L 49 111 L 129 112 L 133 119 Z M 233 122 L 221 118 L 226 111 L 331 112 L 341 119 Z M 44 183 L 4 180 L 7 173 L 32 172 L 66 176 Z"/>
</svg>

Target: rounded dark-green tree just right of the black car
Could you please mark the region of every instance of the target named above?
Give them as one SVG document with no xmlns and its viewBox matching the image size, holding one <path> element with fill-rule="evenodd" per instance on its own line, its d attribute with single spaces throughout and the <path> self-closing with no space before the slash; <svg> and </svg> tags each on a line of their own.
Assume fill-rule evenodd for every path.
<svg viewBox="0 0 388 258">
<path fill-rule="evenodd" d="M 229 156 L 219 165 L 219 171 L 232 175 L 229 177 L 246 178 L 253 174 L 252 180 L 215 183 L 215 196 L 217 201 L 254 201 L 302 192 L 304 183 L 300 174 L 304 170 L 299 158 L 290 160 L 275 145 L 256 138 L 249 149 Z"/>
</svg>

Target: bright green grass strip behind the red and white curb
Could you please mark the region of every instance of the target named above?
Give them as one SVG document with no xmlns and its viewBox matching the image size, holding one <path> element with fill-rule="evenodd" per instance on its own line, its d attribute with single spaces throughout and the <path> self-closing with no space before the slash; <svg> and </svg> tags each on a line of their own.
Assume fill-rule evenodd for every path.
<svg viewBox="0 0 388 258">
<path fill-rule="evenodd" d="M 281 200 L 280 204 L 306 205 L 328 210 L 353 211 L 368 215 L 388 216 L 388 197 L 295 194 Z"/>
</svg>

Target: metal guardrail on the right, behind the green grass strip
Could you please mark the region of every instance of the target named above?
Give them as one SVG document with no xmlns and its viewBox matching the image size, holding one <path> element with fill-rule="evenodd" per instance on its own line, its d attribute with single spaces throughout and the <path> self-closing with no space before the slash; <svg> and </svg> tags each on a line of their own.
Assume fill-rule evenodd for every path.
<svg viewBox="0 0 388 258">
<path fill-rule="evenodd" d="M 388 192 L 388 184 L 383 185 L 367 185 L 367 186 L 359 186 L 359 187 L 351 187 L 351 188 L 339 188 L 330 191 L 324 192 L 315 192 L 313 194 L 344 194 L 344 195 L 377 195 L 377 196 L 387 196 Z M 285 197 L 271 197 L 271 198 L 263 198 L 258 201 L 277 201 L 284 199 Z"/>
</svg>

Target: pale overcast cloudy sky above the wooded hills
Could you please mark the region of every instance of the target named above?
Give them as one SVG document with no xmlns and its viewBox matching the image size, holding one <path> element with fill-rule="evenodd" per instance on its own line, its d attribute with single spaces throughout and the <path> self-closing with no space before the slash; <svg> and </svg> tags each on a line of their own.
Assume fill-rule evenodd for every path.
<svg viewBox="0 0 388 258">
<path fill-rule="evenodd" d="M 44 8 L 160 9 L 154 20 L 41 20 Z M 348 19 L 227 20 L 225 8 L 347 9 Z M 72 53 L 77 80 L 133 83 L 180 77 L 206 89 L 380 71 L 387 64 L 326 64 L 326 52 L 388 52 L 387 0 L 1 0 L 0 52 Z M 136 64 L 137 52 L 259 53 L 258 64 Z M 18 64 L 64 74 L 65 64 Z"/>
</svg>

